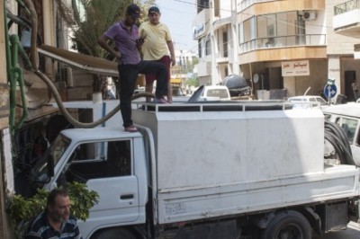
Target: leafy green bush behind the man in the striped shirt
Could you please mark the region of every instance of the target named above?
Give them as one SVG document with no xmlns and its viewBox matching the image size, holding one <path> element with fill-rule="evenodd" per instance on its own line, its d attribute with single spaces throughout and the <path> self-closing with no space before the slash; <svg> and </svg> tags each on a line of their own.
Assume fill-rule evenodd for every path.
<svg viewBox="0 0 360 239">
<path fill-rule="evenodd" d="M 71 215 L 85 221 L 89 217 L 89 209 L 99 201 L 99 195 L 94 190 L 88 190 L 86 184 L 76 181 L 67 183 L 66 189 L 71 201 Z M 49 191 L 38 189 L 29 199 L 16 194 L 9 199 L 7 213 L 18 238 L 22 238 L 27 222 L 46 208 L 48 195 Z"/>
</svg>

